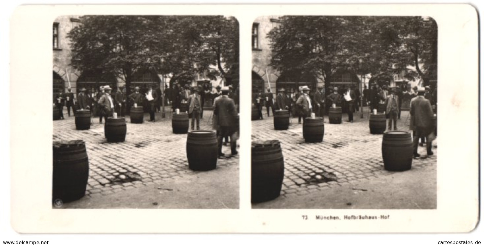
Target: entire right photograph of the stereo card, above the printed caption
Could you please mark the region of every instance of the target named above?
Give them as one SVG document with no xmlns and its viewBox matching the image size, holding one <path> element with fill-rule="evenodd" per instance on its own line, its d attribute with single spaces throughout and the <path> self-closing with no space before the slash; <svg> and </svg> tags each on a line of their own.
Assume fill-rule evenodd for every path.
<svg viewBox="0 0 484 245">
<path fill-rule="evenodd" d="M 260 16 L 251 43 L 253 208 L 437 209 L 432 17 Z"/>
</svg>

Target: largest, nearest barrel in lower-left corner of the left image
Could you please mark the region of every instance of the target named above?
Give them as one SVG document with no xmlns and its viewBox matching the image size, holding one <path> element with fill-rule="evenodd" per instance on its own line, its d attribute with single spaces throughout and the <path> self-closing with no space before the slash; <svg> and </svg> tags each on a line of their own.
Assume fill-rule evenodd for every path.
<svg viewBox="0 0 484 245">
<path fill-rule="evenodd" d="M 86 193 L 89 159 L 82 140 L 52 143 L 52 201 L 78 200 Z"/>
</svg>

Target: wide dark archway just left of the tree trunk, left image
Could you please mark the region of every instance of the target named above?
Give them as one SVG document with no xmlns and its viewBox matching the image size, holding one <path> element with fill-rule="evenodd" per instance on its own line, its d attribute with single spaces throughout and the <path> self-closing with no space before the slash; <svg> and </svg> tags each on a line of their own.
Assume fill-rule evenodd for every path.
<svg viewBox="0 0 484 245">
<path fill-rule="evenodd" d="M 102 71 L 84 71 L 77 79 L 77 91 L 81 88 L 86 88 L 88 91 L 98 91 L 100 86 L 109 85 L 111 88 L 116 87 L 116 77 L 107 72 Z"/>
</svg>

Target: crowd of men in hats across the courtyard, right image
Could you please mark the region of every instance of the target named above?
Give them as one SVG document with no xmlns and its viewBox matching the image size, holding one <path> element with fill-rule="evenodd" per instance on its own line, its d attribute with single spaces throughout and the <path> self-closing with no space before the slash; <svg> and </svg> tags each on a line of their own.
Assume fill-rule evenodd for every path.
<svg viewBox="0 0 484 245">
<path fill-rule="evenodd" d="M 388 118 L 388 130 L 398 130 L 397 120 L 401 119 L 402 104 L 408 102 L 410 123 L 413 130 L 414 157 L 420 157 L 418 146 L 426 144 L 427 156 L 433 155 L 432 141 L 437 135 L 437 85 L 413 88 L 402 86 L 388 87 L 374 84 L 371 89 L 364 86 L 363 98 L 355 86 L 346 86 L 343 89 L 331 87 L 325 93 L 324 87 L 313 91 L 308 86 L 300 86 L 299 91 L 290 88 L 279 88 L 275 99 L 271 89 L 261 92 L 257 89 L 253 97 L 253 106 L 257 108 L 258 119 L 263 119 L 263 106 L 267 109 L 267 116 L 275 110 L 288 110 L 289 116 L 298 117 L 298 123 L 304 122 L 306 117 L 314 113 L 318 117 L 328 115 L 331 107 L 341 107 L 348 113 L 348 122 L 353 122 L 353 112 L 363 110 L 363 105 L 369 105 L 370 110 L 379 110 Z M 363 104 L 361 104 L 363 99 Z M 419 143 L 420 141 L 420 143 Z"/>
</svg>

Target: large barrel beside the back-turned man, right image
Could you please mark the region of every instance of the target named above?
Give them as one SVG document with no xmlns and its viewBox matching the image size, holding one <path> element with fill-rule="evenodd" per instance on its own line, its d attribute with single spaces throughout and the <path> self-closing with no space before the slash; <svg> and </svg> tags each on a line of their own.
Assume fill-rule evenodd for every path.
<svg viewBox="0 0 484 245">
<path fill-rule="evenodd" d="M 388 171 L 406 171 L 412 167 L 413 142 L 410 132 L 387 131 L 381 143 L 383 165 Z"/>
</svg>

